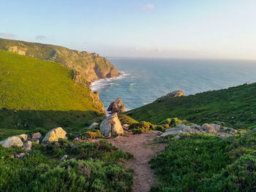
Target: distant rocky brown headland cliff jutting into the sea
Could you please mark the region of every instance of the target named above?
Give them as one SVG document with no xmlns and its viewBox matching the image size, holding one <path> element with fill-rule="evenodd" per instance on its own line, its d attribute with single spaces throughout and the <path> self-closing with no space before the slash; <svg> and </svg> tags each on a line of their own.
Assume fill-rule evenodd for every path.
<svg viewBox="0 0 256 192">
<path fill-rule="evenodd" d="M 108 59 L 97 53 L 69 50 L 66 47 L 0 39 L 0 49 L 40 60 L 56 61 L 78 72 L 87 82 L 118 77 L 118 70 Z"/>
</svg>

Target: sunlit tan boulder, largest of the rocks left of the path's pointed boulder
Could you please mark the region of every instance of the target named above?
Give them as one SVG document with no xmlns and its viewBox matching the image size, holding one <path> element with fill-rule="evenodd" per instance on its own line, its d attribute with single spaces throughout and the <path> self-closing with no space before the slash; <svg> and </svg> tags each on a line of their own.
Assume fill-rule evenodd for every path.
<svg viewBox="0 0 256 192">
<path fill-rule="evenodd" d="M 45 138 L 42 139 L 42 142 L 58 142 L 59 139 L 67 139 L 66 134 L 67 132 L 64 131 L 64 129 L 61 127 L 53 128 L 45 135 Z"/>
</svg>

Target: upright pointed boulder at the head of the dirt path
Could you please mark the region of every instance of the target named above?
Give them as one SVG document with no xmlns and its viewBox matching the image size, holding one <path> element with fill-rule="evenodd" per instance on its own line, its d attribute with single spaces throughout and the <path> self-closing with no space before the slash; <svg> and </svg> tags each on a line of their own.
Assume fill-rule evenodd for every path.
<svg viewBox="0 0 256 192">
<path fill-rule="evenodd" d="M 105 120 L 100 123 L 99 130 L 105 137 L 124 134 L 124 129 L 121 126 L 121 122 L 118 119 L 117 113 L 114 113 L 105 118 Z"/>
</svg>

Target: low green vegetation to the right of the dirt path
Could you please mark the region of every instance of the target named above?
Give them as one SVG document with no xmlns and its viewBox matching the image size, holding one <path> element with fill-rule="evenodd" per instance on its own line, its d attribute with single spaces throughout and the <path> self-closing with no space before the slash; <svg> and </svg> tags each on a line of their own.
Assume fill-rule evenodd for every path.
<svg viewBox="0 0 256 192">
<path fill-rule="evenodd" d="M 151 160 L 157 180 L 151 191 L 253 191 L 256 133 L 220 139 L 212 135 L 160 138 L 165 152 Z"/>
</svg>

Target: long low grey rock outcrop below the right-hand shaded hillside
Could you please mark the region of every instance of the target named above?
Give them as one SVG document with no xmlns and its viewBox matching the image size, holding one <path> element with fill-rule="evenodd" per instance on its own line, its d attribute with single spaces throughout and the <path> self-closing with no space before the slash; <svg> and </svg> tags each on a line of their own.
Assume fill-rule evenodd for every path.
<svg viewBox="0 0 256 192">
<path fill-rule="evenodd" d="M 165 133 L 161 134 L 161 137 L 167 135 L 178 135 L 178 134 L 214 134 L 218 137 L 227 138 L 233 134 L 237 134 L 238 131 L 234 128 L 227 128 L 225 126 L 219 126 L 217 124 L 205 123 L 203 126 L 193 125 L 185 126 L 183 124 L 178 125 L 176 128 L 167 128 Z"/>
</svg>

